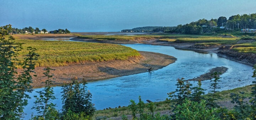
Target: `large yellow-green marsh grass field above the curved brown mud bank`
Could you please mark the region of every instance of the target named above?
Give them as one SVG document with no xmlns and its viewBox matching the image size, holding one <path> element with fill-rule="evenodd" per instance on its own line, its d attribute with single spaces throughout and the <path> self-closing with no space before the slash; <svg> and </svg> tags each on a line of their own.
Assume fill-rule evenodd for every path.
<svg viewBox="0 0 256 120">
<path fill-rule="evenodd" d="M 34 47 L 40 55 L 36 66 L 64 66 L 69 63 L 85 61 L 127 60 L 140 56 L 137 50 L 117 44 L 16 40 L 23 48 Z M 20 60 L 27 54 L 25 49 L 19 52 Z"/>
</svg>

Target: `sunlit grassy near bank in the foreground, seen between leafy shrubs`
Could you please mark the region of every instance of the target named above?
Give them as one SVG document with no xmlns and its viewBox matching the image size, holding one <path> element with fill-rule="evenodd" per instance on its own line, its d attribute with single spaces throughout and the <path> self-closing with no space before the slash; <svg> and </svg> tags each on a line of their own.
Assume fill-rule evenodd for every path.
<svg viewBox="0 0 256 120">
<path fill-rule="evenodd" d="M 217 101 L 230 101 L 230 94 L 231 93 L 239 93 L 244 92 L 244 94 L 240 94 L 241 96 L 250 97 L 252 85 L 247 85 L 240 88 L 235 88 L 231 90 L 224 90 L 216 93 L 218 96 Z M 210 94 L 203 95 L 204 98 L 210 98 Z M 155 102 L 156 111 L 163 111 L 170 109 L 170 102 L 168 101 L 161 101 Z M 148 103 L 147 103 L 148 105 Z M 146 106 L 147 106 L 146 105 Z M 111 108 L 105 110 L 97 110 L 94 114 L 94 119 L 96 118 L 110 118 L 110 117 L 117 117 L 122 115 L 131 115 L 131 111 L 128 107 L 119 107 L 119 108 Z"/>
</svg>

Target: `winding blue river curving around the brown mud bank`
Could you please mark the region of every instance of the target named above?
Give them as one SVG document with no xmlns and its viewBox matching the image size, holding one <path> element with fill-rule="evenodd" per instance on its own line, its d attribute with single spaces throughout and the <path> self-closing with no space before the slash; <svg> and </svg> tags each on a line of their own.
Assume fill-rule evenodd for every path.
<svg viewBox="0 0 256 120">
<path fill-rule="evenodd" d="M 92 93 L 92 103 L 95 104 L 98 110 L 108 107 L 128 106 L 129 100 L 138 102 L 138 96 L 142 96 L 144 102 L 146 100 L 164 101 L 168 97 L 167 93 L 176 89 L 177 78 L 191 79 L 206 73 L 210 68 L 219 66 L 228 68 L 228 71 L 220 76 L 222 82 L 219 83 L 221 87 L 219 91 L 250 85 L 254 80 L 251 77 L 253 72 L 251 66 L 220 58 L 215 53 L 203 54 L 189 50 L 179 50 L 170 46 L 152 46 L 148 44 L 124 44 L 124 46 L 140 51 L 171 55 L 177 58 L 177 61 L 151 74 L 145 72 L 89 82 L 87 87 Z M 191 83 L 193 86 L 196 85 L 196 82 Z M 210 80 L 202 82 L 204 89 L 208 89 L 209 85 Z M 37 95 L 36 91 L 42 89 L 35 89 L 30 94 L 32 99 L 28 100 L 29 104 L 25 107 L 25 113 L 27 113 L 25 119 L 30 118 L 32 112 L 36 113 L 35 110 L 31 110 L 35 101 L 33 96 Z M 61 91 L 60 86 L 54 87 L 57 100 L 54 100 L 53 103 L 57 104 L 59 110 L 62 108 Z M 206 90 L 206 92 L 208 91 Z"/>
</svg>

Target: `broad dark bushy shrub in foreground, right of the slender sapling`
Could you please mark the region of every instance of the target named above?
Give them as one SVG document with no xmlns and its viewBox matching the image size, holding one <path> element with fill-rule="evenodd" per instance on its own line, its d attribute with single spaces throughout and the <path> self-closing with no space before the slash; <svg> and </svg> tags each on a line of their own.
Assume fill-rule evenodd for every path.
<svg viewBox="0 0 256 120">
<path fill-rule="evenodd" d="M 86 83 L 79 84 L 77 81 L 69 85 L 62 86 L 62 111 L 66 114 L 69 110 L 73 113 L 81 113 L 87 116 L 92 116 L 95 112 L 95 107 L 91 103 L 92 94 L 88 90 Z"/>
</svg>

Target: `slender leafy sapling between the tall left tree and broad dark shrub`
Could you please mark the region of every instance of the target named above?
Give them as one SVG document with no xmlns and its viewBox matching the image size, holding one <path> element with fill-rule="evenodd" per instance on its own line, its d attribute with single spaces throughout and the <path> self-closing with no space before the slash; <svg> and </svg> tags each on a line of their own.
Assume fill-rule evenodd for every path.
<svg viewBox="0 0 256 120">
<path fill-rule="evenodd" d="M 47 80 L 44 82 L 46 84 L 45 88 L 41 91 L 36 91 L 39 94 L 38 96 L 34 96 L 36 101 L 34 102 L 34 106 L 32 109 L 35 109 L 39 115 L 34 116 L 33 119 L 37 118 L 45 118 L 45 119 L 58 119 L 58 112 L 56 113 L 56 104 L 53 104 L 51 101 L 56 99 L 54 96 L 53 88 L 50 87 L 54 82 L 51 78 L 54 74 L 50 73 L 54 69 L 49 67 L 44 68 L 44 77 L 47 77 Z"/>
</svg>

